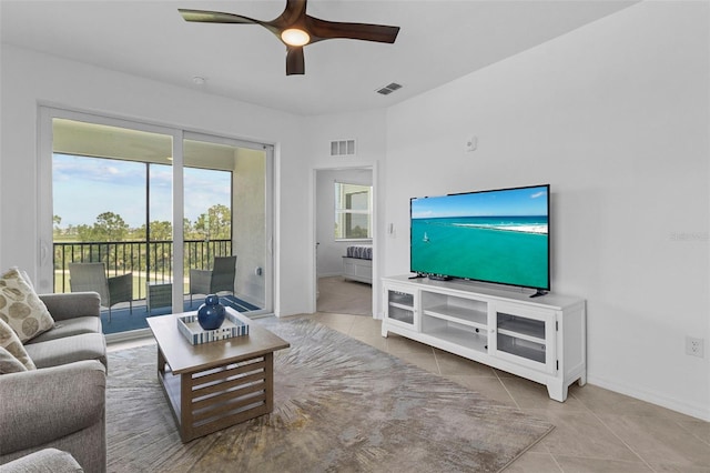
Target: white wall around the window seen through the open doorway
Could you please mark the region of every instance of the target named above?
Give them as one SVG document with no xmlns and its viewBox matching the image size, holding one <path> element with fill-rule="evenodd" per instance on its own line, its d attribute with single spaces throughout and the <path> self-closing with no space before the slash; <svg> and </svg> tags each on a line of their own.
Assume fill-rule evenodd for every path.
<svg viewBox="0 0 710 473">
<path fill-rule="evenodd" d="M 336 241 L 334 236 L 335 182 L 347 184 L 373 184 L 371 169 L 321 170 L 316 182 L 316 241 L 318 258 L 316 274 L 318 278 L 343 274 L 343 256 L 352 241 Z M 369 243 L 366 241 L 365 243 Z"/>
</svg>

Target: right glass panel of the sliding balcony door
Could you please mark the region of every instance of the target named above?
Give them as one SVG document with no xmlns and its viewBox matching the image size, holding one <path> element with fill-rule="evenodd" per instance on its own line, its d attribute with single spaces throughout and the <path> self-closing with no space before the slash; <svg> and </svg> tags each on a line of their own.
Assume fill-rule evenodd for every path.
<svg viewBox="0 0 710 473">
<path fill-rule="evenodd" d="M 267 161 L 263 147 L 203 135 L 184 140 L 184 278 L 193 309 L 216 288 L 222 302 L 240 312 L 272 311 Z M 220 278 L 215 258 L 229 255 L 236 256 L 231 288 L 224 281 L 205 285 L 204 278 L 212 284 Z"/>
</svg>

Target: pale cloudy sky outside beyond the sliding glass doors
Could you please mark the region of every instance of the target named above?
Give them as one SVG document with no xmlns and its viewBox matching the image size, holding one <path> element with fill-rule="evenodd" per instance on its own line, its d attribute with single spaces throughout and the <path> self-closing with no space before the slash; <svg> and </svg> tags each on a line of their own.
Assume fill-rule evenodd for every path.
<svg viewBox="0 0 710 473">
<path fill-rule="evenodd" d="M 172 167 L 151 167 L 151 221 L 172 220 Z M 131 228 L 145 223 L 145 164 L 54 154 L 53 214 L 61 227 L 92 224 L 103 212 L 118 213 Z M 185 218 L 191 222 L 214 204 L 230 207 L 231 173 L 184 170 Z"/>
</svg>

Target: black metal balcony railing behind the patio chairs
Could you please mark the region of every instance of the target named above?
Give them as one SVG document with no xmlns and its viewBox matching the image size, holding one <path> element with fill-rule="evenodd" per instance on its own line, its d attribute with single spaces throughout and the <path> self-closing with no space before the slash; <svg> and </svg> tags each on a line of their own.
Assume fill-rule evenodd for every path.
<svg viewBox="0 0 710 473">
<path fill-rule="evenodd" d="M 185 274 L 191 269 L 212 269 L 214 256 L 231 254 L 231 240 L 185 240 Z M 175 280 L 172 261 L 172 241 L 54 243 L 54 292 L 70 292 L 69 263 L 103 262 L 110 276 L 133 273 L 133 300 L 145 299 L 146 282 Z"/>
</svg>

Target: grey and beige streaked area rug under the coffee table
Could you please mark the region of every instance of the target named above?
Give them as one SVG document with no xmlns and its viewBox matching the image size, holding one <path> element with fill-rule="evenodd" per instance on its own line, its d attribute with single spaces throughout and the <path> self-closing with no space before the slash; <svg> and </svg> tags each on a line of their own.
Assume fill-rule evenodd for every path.
<svg viewBox="0 0 710 473">
<path fill-rule="evenodd" d="M 554 426 L 308 320 L 262 323 L 274 411 L 183 444 L 155 345 L 109 354 L 110 472 L 496 472 Z"/>
</svg>

